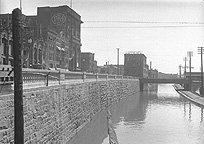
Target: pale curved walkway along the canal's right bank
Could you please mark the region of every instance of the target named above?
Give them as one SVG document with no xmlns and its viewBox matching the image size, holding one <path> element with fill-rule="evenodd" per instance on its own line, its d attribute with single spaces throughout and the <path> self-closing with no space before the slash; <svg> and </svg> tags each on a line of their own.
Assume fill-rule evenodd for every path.
<svg viewBox="0 0 204 144">
<path fill-rule="evenodd" d="M 191 91 L 185 91 L 184 88 L 180 85 L 174 85 L 174 88 L 183 97 L 198 105 L 204 106 L 204 97 L 201 97 L 199 94 L 193 93 Z"/>
</svg>

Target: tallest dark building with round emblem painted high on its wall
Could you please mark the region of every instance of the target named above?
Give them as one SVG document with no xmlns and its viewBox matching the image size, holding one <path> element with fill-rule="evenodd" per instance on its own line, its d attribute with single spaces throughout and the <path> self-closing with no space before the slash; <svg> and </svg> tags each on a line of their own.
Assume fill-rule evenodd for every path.
<svg viewBox="0 0 204 144">
<path fill-rule="evenodd" d="M 49 67 L 81 69 L 81 16 L 68 6 L 38 7 L 38 27 Z"/>
</svg>

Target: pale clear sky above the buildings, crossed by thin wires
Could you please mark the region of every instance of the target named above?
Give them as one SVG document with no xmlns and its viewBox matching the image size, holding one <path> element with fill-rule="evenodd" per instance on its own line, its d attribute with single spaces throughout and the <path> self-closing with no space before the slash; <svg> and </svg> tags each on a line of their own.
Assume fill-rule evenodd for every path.
<svg viewBox="0 0 204 144">
<path fill-rule="evenodd" d="M 81 15 L 82 52 L 92 52 L 98 65 L 124 64 L 124 54 L 139 51 L 147 64 L 164 73 L 179 73 L 192 51 L 192 71 L 200 71 L 198 47 L 204 46 L 202 0 L 21 0 L 26 15 L 37 7 L 72 3 Z M 11 13 L 20 0 L 0 0 L 0 13 Z M 187 61 L 189 66 L 189 61 Z M 183 69 L 182 69 L 183 71 Z M 189 70 L 187 70 L 189 71 Z"/>
</svg>

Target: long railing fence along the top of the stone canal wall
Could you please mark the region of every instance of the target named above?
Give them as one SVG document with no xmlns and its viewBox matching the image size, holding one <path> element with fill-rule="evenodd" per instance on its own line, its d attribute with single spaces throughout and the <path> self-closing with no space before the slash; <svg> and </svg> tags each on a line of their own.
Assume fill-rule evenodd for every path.
<svg viewBox="0 0 204 144">
<path fill-rule="evenodd" d="M 3 73 L 0 73 L 0 85 L 1 84 L 13 84 L 14 74 L 12 68 L 0 69 Z M 89 80 L 111 80 L 111 79 L 135 79 L 131 76 L 111 75 L 111 74 L 98 74 L 98 73 L 86 73 L 86 72 L 70 72 L 65 70 L 43 70 L 43 69 L 30 69 L 22 68 L 23 84 L 32 84 L 43 82 L 48 86 L 51 83 L 63 83 L 68 81 L 89 81 Z"/>
</svg>

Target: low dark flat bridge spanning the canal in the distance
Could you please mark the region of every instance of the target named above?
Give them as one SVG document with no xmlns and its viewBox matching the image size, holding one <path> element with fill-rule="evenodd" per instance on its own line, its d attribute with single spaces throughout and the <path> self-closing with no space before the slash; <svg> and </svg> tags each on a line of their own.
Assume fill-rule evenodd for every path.
<svg viewBox="0 0 204 144">
<path fill-rule="evenodd" d="M 143 91 L 144 84 L 156 83 L 156 84 L 183 84 L 185 90 L 190 90 L 190 80 L 187 78 L 174 78 L 174 79 L 164 79 L 164 78 L 140 78 L 140 91 Z"/>
</svg>

